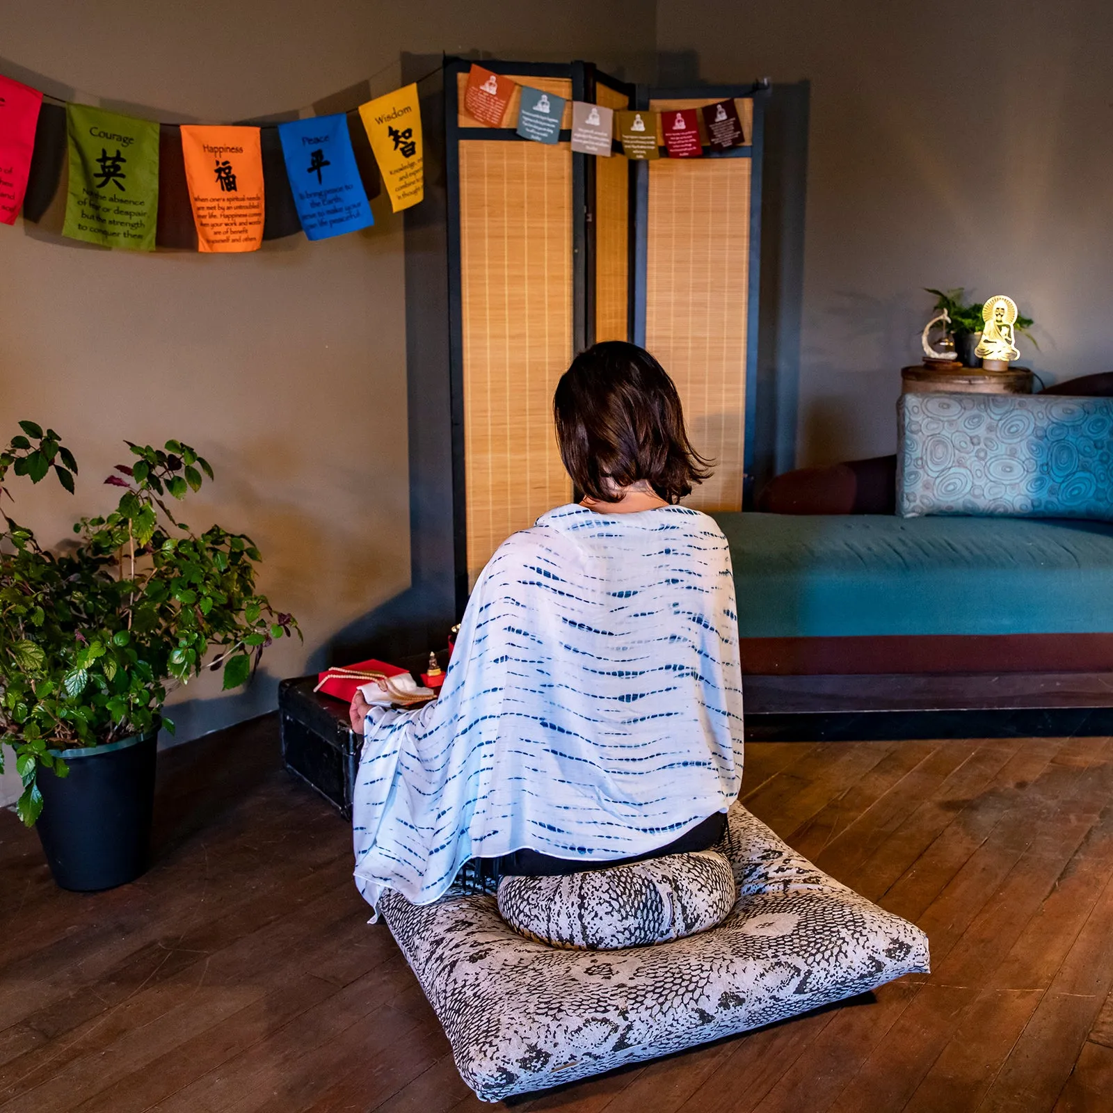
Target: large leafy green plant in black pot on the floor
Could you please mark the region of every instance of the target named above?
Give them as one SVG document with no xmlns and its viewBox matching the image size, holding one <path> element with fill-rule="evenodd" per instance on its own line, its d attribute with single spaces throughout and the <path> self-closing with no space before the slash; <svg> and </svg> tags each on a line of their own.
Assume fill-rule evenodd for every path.
<svg viewBox="0 0 1113 1113">
<path fill-rule="evenodd" d="M 20 422 L 0 453 L 39 483 L 51 472 L 73 493 L 77 461 L 51 429 Z M 274 639 L 301 637 L 255 590 L 250 538 L 214 525 L 193 532 L 171 506 L 213 469 L 189 445 L 126 442 L 130 463 L 106 483 L 115 510 L 82 518 L 76 543 L 45 549 L 2 514 L 0 530 L 0 770 L 14 751 L 19 817 L 37 825 L 56 881 L 111 888 L 147 865 L 155 752 L 173 687 L 201 669 L 238 688 Z"/>
</svg>

